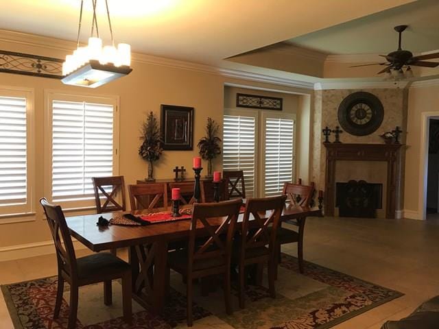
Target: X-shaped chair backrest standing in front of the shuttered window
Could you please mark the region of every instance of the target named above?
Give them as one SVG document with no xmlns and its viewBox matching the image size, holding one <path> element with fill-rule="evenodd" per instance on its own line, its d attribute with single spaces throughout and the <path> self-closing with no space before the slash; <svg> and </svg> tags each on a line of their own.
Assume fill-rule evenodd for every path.
<svg viewBox="0 0 439 329">
<path fill-rule="evenodd" d="M 123 176 L 93 177 L 93 190 L 95 191 L 96 210 L 102 212 L 125 211 L 125 181 Z M 109 192 L 109 188 L 111 191 Z M 122 204 L 117 201 L 117 193 L 121 193 Z M 104 204 L 101 197 L 104 196 Z"/>
</svg>

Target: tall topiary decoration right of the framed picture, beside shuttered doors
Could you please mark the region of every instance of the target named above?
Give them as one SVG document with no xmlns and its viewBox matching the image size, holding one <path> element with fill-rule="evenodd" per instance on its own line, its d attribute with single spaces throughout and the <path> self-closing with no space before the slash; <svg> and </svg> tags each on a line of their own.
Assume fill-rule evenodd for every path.
<svg viewBox="0 0 439 329">
<path fill-rule="evenodd" d="M 221 154 L 221 138 L 217 136 L 219 125 L 211 117 L 207 118 L 206 136 L 198 141 L 200 148 L 200 156 L 207 160 L 207 175 L 206 178 L 211 179 L 212 176 L 212 162 L 219 154 Z"/>
</svg>

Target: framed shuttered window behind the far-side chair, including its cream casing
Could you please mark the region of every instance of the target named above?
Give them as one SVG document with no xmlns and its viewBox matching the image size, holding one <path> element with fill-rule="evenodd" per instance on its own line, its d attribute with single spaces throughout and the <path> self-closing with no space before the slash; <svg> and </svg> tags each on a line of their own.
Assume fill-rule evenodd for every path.
<svg viewBox="0 0 439 329">
<path fill-rule="evenodd" d="M 92 177 L 119 173 L 117 97 L 47 96 L 46 195 L 63 208 L 95 206 Z"/>
</svg>

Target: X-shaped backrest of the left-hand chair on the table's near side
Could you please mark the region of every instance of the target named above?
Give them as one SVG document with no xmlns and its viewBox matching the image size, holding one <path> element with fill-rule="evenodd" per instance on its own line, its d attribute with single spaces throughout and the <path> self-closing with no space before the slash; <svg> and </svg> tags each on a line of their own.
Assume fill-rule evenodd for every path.
<svg viewBox="0 0 439 329">
<path fill-rule="evenodd" d="M 233 235 L 239 216 L 239 208 L 242 200 L 219 202 L 215 204 L 194 204 L 191 228 L 189 230 L 189 269 L 193 262 L 198 259 L 228 257 L 226 262 L 230 263 L 230 252 Z M 209 219 L 224 217 L 221 225 L 212 226 Z M 201 229 L 201 230 L 200 230 Z M 198 232 L 202 232 L 200 235 Z M 226 240 L 221 239 L 221 234 L 226 233 Z M 195 247 L 195 239 L 204 242 Z"/>
</svg>

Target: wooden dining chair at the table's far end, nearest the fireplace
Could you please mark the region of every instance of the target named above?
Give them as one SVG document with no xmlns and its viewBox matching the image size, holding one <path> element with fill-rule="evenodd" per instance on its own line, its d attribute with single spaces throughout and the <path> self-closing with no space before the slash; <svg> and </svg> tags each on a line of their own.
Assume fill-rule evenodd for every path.
<svg viewBox="0 0 439 329">
<path fill-rule="evenodd" d="M 283 194 L 287 196 L 289 207 L 309 207 L 313 195 L 314 187 L 308 185 L 292 184 L 285 182 L 283 184 Z M 297 243 L 297 259 L 299 271 L 303 273 L 303 234 L 305 230 L 305 218 L 295 221 L 289 221 L 298 230 L 289 230 L 279 226 L 276 240 L 276 254 L 278 261 L 281 262 L 281 245 L 285 243 Z"/>
</svg>

